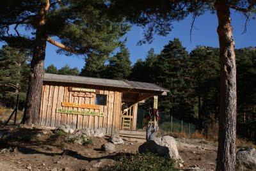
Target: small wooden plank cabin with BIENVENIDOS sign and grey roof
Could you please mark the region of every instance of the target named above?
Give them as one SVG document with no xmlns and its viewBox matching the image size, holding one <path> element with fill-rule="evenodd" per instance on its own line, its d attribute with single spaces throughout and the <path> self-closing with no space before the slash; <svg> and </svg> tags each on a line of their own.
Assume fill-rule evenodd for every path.
<svg viewBox="0 0 256 171">
<path fill-rule="evenodd" d="M 145 82 L 45 73 L 39 124 L 106 128 L 107 135 L 136 130 L 138 103 L 166 92 Z"/>
</svg>

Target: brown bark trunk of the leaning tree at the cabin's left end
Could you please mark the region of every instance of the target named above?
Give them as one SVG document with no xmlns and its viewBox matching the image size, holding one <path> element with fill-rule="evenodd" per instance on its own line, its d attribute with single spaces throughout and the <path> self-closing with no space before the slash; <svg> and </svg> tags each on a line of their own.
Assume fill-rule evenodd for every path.
<svg viewBox="0 0 256 171">
<path fill-rule="evenodd" d="M 39 120 L 40 101 L 44 77 L 44 59 L 46 49 L 47 31 L 45 17 L 49 11 L 50 2 L 45 0 L 40 6 L 38 27 L 36 29 L 35 47 L 29 73 L 28 92 L 26 96 L 25 111 L 22 123 L 37 124 Z"/>
</svg>

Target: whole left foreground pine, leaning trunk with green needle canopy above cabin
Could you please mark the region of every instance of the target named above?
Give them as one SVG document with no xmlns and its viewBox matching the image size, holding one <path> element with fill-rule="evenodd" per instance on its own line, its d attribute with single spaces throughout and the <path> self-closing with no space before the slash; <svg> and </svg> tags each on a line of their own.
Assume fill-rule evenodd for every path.
<svg viewBox="0 0 256 171">
<path fill-rule="evenodd" d="M 58 52 L 108 54 L 119 45 L 129 26 L 106 15 L 108 1 L 3 0 L 0 40 L 12 47 L 31 48 L 31 70 L 23 123 L 38 123 L 47 42 Z"/>
</svg>

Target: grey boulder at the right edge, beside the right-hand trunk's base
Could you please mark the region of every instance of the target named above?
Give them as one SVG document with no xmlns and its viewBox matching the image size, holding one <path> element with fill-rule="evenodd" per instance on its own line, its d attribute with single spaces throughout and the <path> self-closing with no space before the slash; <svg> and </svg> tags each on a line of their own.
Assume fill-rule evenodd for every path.
<svg viewBox="0 0 256 171">
<path fill-rule="evenodd" d="M 253 170 L 256 168 L 256 150 L 241 149 L 237 151 L 237 170 Z"/>
</svg>

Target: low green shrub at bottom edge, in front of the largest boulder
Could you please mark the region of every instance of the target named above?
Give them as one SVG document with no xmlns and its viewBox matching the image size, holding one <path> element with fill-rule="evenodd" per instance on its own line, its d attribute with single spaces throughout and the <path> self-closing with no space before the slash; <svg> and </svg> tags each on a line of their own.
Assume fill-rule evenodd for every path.
<svg viewBox="0 0 256 171">
<path fill-rule="evenodd" d="M 157 156 L 152 153 L 145 154 L 127 154 L 117 158 L 116 164 L 104 168 L 105 171 L 165 171 L 178 170 L 175 168 L 175 161 Z"/>
</svg>

